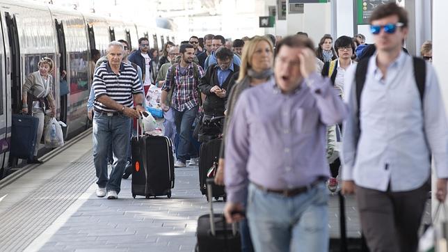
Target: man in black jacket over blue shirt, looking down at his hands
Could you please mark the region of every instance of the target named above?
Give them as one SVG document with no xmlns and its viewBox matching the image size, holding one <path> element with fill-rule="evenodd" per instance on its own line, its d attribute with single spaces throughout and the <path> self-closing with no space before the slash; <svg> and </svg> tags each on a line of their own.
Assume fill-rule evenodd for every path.
<svg viewBox="0 0 448 252">
<path fill-rule="evenodd" d="M 226 47 L 216 50 L 215 56 L 218 64 L 211 65 L 200 79 L 199 89 L 207 98 L 202 104 L 205 116 L 224 116 L 225 100 L 227 100 L 227 86 L 234 72 L 239 71 L 239 66 L 234 65 L 233 52 Z"/>
</svg>

